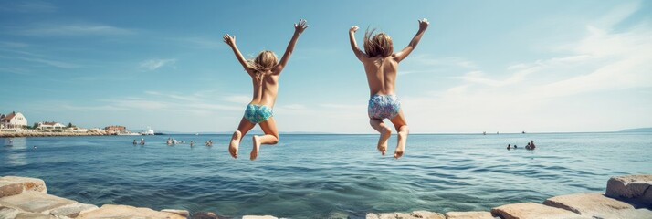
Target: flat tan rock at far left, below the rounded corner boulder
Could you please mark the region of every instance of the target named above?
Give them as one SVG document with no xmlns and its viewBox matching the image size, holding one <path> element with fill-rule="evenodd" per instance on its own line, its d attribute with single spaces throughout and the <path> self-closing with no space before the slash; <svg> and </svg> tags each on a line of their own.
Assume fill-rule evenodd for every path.
<svg viewBox="0 0 652 219">
<path fill-rule="evenodd" d="M 26 191 L 13 196 L 0 198 L 0 204 L 2 205 L 26 212 L 41 214 L 49 214 L 49 212 L 55 208 L 72 203 L 77 202 L 49 195 L 47 193 L 34 191 Z"/>
</svg>

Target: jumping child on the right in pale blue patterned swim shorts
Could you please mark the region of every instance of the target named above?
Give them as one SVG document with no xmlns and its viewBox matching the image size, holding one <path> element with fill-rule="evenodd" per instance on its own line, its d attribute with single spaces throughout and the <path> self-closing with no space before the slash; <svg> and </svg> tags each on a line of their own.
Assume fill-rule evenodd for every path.
<svg viewBox="0 0 652 219">
<path fill-rule="evenodd" d="M 351 49 L 355 57 L 363 63 L 369 84 L 371 96 L 368 105 L 369 123 L 374 130 L 381 134 L 378 139 L 377 149 L 383 155 L 387 151 L 387 140 L 392 134 L 392 129 L 385 125 L 383 120 L 389 119 L 394 124 L 394 129 L 398 131 L 398 141 L 394 151 L 395 159 L 403 156 L 409 132 L 401 109 L 401 102 L 395 95 L 396 74 L 398 63 L 412 53 L 430 24 L 425 18 L 418 22 L 419 30 L 416 32 L 415 37 L 412 38 L 407 47 L 397 53 L 394 53 L 392 37 L 385 33 L 373 35 L 374 29 L 367 30 L 364 33 L 363 52 L 355 42 L 355 31 L 358 30 L 358 26 L 352 26 L 349 29 Z"/>
</svg>

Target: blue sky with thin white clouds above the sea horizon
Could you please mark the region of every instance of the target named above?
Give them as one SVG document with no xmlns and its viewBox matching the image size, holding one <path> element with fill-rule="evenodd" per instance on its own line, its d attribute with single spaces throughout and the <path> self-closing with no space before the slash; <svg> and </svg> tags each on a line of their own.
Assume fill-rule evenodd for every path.
<svg viewBox="0 0 652 219">
<path fill-rule="evenodd" d="M 651 12 L 649 1 L 2 1 L 0 112 L 235 130 L 251 82 L 221 36 L 246 57 L 282 55 L 305 18 L 280 78 L 279 130 L 373 133 L 347 31 L 361 26 L 361 42 L 377 27 L 397 50 L 426 17 L 396 85 L 413 133 L 650 127 Z"/>
</svg>

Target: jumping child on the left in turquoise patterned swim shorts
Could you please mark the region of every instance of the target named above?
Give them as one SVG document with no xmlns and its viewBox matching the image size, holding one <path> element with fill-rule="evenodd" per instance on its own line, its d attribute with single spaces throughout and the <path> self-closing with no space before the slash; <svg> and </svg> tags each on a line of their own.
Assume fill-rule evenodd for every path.
<svg viewBox="0 0 652 219">
<path fill-rule="evenodd" d="M 271 51 L 262 51 L 258 56 L 252 60 L 246 60 L 242 56 L 240 50 L 236 46 L 236 37 L 225 35 L 224 42 L 231 47 L 233 53 L 236 55 L 237 61 L 240 62 L 247 74 L 252 79 L 254 85 L 254 97 L 247 105 L 245 115 L 240 120 L 240 125 L 237 130 L 233 132 L 231 141 L 228 145 L 228 152 L 233 158 L 237 158 L 237 150 L 242 141 L 242 136 L 247 134 L 247 131 L 253 129 L 256 124 L 265 133 L 262 136 L 254 135 L 252 141 L 254 143 L 249 159 L 256 160 L 258 151 L 261 144 L 276 144 L 279 142 L 279 130 L 276 129 L 276 121 L 274 121 L 274 102 L 276 102 L 277 93 L 279 92 L 279 76 L 280 72 L 288 64 L 289 56 L 297 44 L 297 40 L 303 30 L 308 28 L 306 20 L 300 19 L 299 23 L 294 24 L 294 35 L 289 40 L 288 48 L 285 50 L 283 57 L 278 60 L 276 54 Z"/>
</svg>

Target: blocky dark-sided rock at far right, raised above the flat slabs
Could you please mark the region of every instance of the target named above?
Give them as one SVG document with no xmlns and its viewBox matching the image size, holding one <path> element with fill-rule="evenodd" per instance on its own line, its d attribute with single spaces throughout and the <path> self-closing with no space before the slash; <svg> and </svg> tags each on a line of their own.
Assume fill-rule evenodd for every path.
<svg viewBox="0 0 652 219">
<path fill-rule="evenodd" d="M 606 183 L 606 196 L 643 203 L 652 208 L 652 175 L 614 176 Z"/>
</svg>

